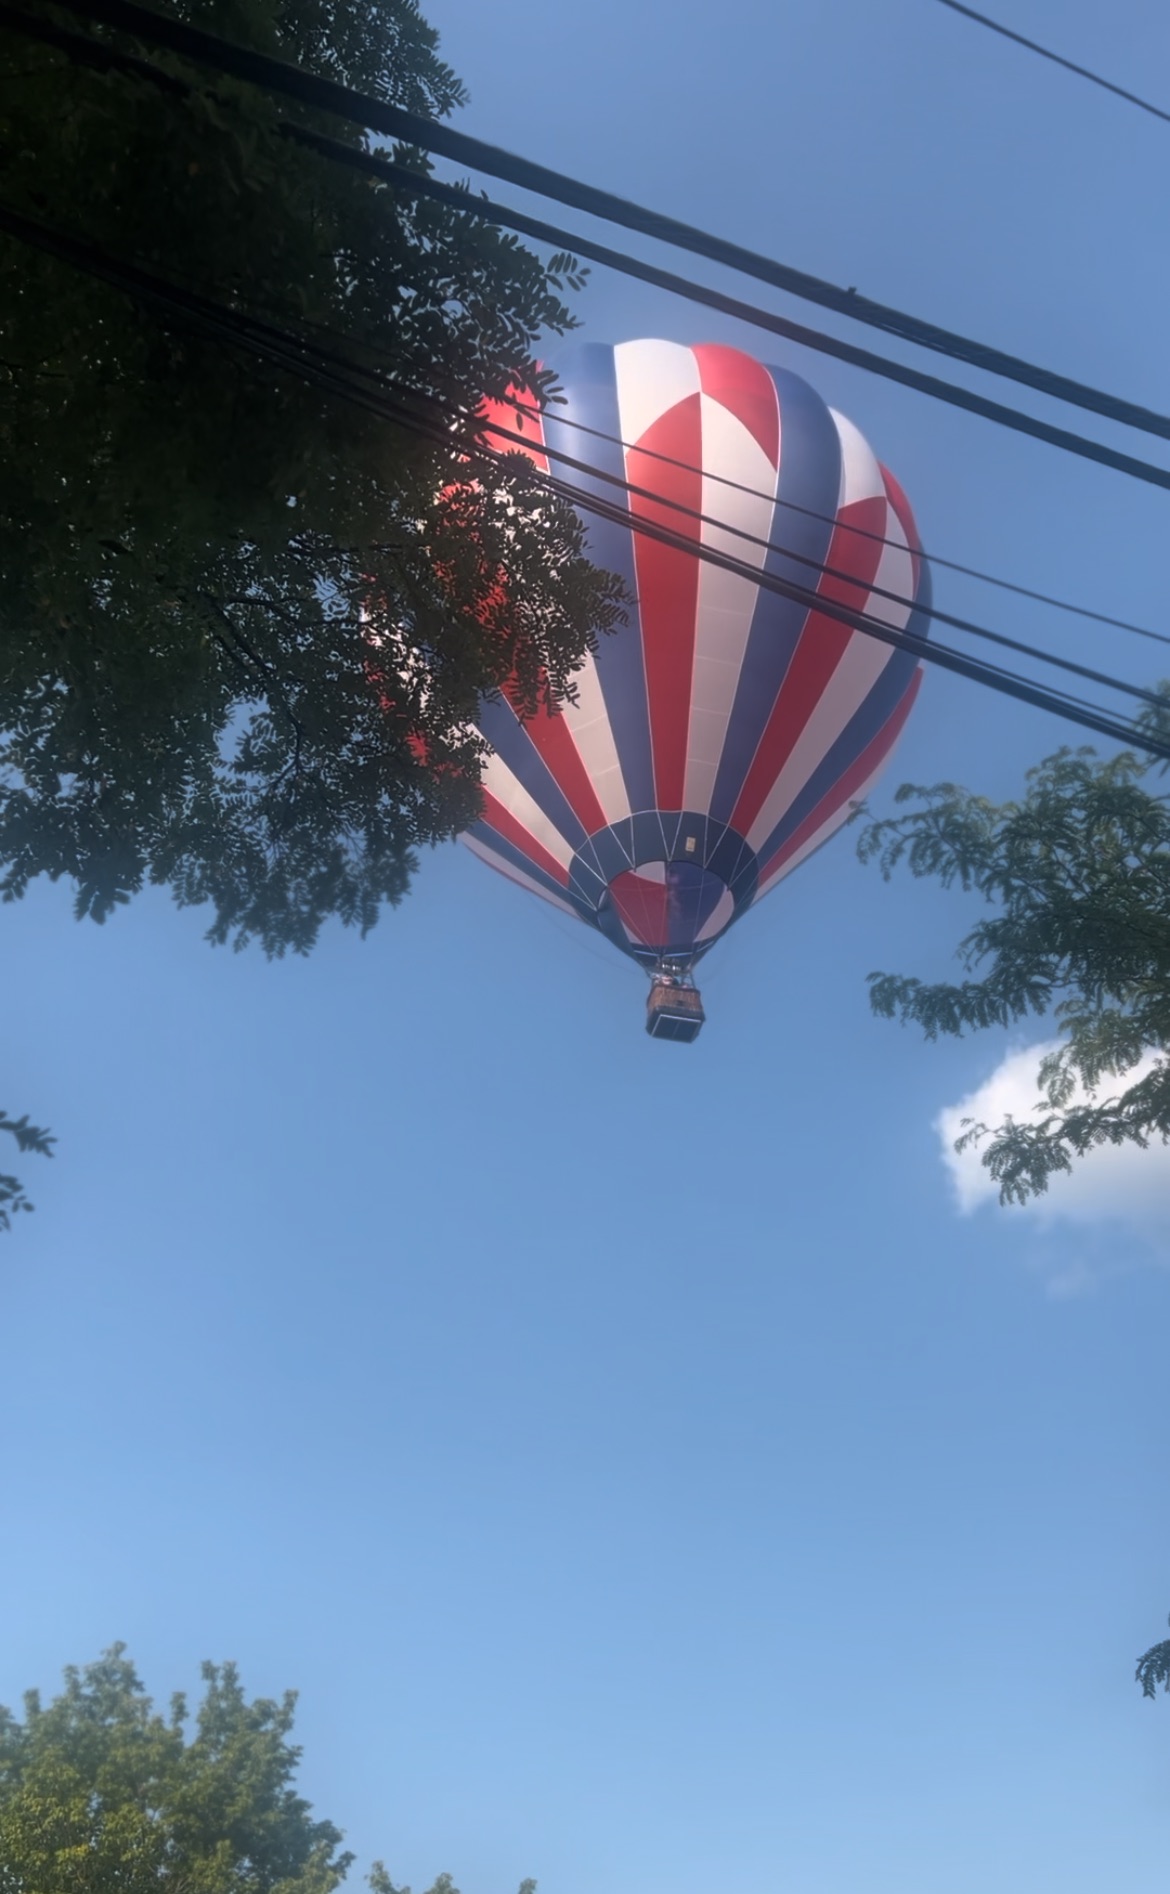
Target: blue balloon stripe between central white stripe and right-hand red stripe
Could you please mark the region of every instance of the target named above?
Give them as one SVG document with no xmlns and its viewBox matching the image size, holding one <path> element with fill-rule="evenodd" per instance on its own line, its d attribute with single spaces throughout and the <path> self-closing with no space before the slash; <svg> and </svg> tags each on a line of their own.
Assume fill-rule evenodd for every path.
<svg viewBox="0 0 1170 1894">
<path fill-rule="evenodd" d="M 807 381 L 782 367 L 771 367 L 769 375 L 780 402 L 780 481 L 769 540 L 784 551 L 767 555 L 765 572 L 816 587 L 816 568 L 829 553 L 831 521 L 841 496 L 841 436 L 829 409 Z M 827 521 L 793 513 L 784 502 L 825 513 Z M 807 617 L 808 608 L 793 599 L 780 599 L 771 591 L 759 591 L 755 599 L 712 794 L 710 813 L 718 822 L 731 822 Z"/>
</svg>

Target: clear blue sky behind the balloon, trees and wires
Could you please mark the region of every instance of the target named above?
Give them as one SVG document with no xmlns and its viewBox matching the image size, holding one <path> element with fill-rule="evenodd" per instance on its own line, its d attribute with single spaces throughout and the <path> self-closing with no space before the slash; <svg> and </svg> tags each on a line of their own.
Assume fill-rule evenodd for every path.
<svg viewBox="0 0 1170 1894">
<path fill-rule="evenodd" d="M 998 11 L 1170 106 L 1161 0 Z M 1170 127 L 935 0 L 428 15 L 468 131 L 1170 405 Z M 579 307 L 793 366 L 928 547 L 1162 623 L 1164 494 L 625 280 Z M 875 809 L 1009 795 L 1062 739 L 931 674 Z M 61 1144 L 0 1242 L 0 1701 L 114 1638 L 163 1699 L 235 1657 L 417 1888 L 1162 1888 L 1170 1165 L 986 1201 L 947 1133 L 1051 1027 L 928 1045 L 865 994 L 945 977 L 969 915 L 846 833 L 712 955 L 682 1049 L 456 847 L 307 962 L 155 896 L 6 909 L 0 1102 Z"/>
</svg>

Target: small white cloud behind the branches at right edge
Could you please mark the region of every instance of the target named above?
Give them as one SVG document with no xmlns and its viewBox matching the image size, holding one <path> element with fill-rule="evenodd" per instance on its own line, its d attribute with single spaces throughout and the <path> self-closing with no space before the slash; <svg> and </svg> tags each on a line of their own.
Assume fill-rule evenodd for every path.
<svg viewBox="0 0 1170 1894">
<path fill-rule="evenodd" d="M 1043 1116 L 1045 1106 L 1037 1100 L 1036 1074 L 1039 1061 L 1053 1049 L 1053 1042 L 1026 1045 L 1009 1053 L 977 1091 L 948 1104 L 935 1117 L 943 1163 L 950 1172 L 950 1184 L 958 1208 L 969 1216 L 983 1205 L 998 1203 L 998 1186 L 981 1163 L 979 1146 L 966 1152 L 954 1150 L 954 1140 L 962 1136 L 964 1117 L 973 1117 L 983 1125 L 1002 1125 L 1005 1117 L 1017 1121 Z M 1134 1066 L 1132 1078 L 1149 1070 L 1153 1059 Z M 1125 1080 L 1115 1078 L 1109 1093 L 1123 1089 Z M 1085 1093 L 1077 1095 L 1083 1102 Z M 1003 1214 L 1024 1216 L 1032 1227 L 1055 1224 L 1079 1225 L 1128 1225 L 1128 1229 L 1153 1244 L 1170 1260 L 1170 1146 L 1161 1140 L 1142 1150 L 1136 1144 L 1106 1144 L 1075 1159 L 1068 1174 L 1055 1176 L 1043 1197 L 1032 1197 L 1020 1208 L 1013 1205 Z"/>
</svg>

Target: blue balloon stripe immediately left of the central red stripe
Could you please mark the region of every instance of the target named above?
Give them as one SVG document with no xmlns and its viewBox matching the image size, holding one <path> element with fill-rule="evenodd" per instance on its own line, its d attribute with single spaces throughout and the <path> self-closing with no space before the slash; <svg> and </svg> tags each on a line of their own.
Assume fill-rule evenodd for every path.
<svg viewBox="0 0 1170 1894">
<path fill-rule="evenodd" d="M 562 369 L 564 405 L 549 405 L 545 413 L 545 441 L 560 453 L 589 460 L 604 474 L 625 479 L 625 455 L 617 438 L 621 420 L 617 411 L 617 371 L 613 367 L 613 348 L 602 343 L 585 343 L 572 348 Z M 564 419 L 558 419 L 564 417 Z M 581 434 L 572 422 L 596 428 Z M 621 489 L 608 481 L 594 479 L 576 468 L 551 462 L 553 472 L 574 487 L 602 500 L 623 504 Z M 625 581 L 630 602 L 627 604 L 629 623 L 612 638 L 600 638 L 596 653 L 596 676 L 613 731 L 613 744 L 621 761 L 625 790 L 630 809 L 653 809 L 653 754 L 649 746 L 649 708 L 646 695 L 646 661 L 642 655 L 642 621 L 636 597 L 638 581 L 634 572 L 634 542 L 629 527 L 585 513 L 589 532 L 589 557 L 606 572 L 617 572 Z"/>
</svg>

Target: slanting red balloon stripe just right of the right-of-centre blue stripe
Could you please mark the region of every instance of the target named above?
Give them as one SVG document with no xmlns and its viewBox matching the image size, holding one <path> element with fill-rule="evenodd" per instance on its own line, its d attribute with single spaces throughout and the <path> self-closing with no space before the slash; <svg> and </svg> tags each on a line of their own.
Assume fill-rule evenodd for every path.
<svg viewBox="0 0 1170 1894">
<path fill-rule="evenodd" d="M 850 528 L 860 528 L 860 532 Z M 820 599 L 848 606 L 852 612 L 865 610 L 869 604 L 869 587 L 882 561 L 882 545 L 878 540 L 861 538 L 861 534 L 882 534 L 884 530 L 886 502 L 882 498 L 854 500 L 852 506 L 841 508 L 825 559 L 825 564 L 833 568 L 833 574 L 841 574 L 841 578 L 827 572 L 822 574 L 822 581 L 816 587 Z M 740 835 L 748 833 L 772 794 L 780 771 L 816 710 L 852 634 L 850 625 L 842 625 L 835 617 L 825 617 L 822 612 L 810 612 L 805 619 L 805 629 L 791 653 L 784 684 L 772 705 L 772 714 L 759 739 L 744 788 L 731 814 L 731 826 Z"/>
</svg>

